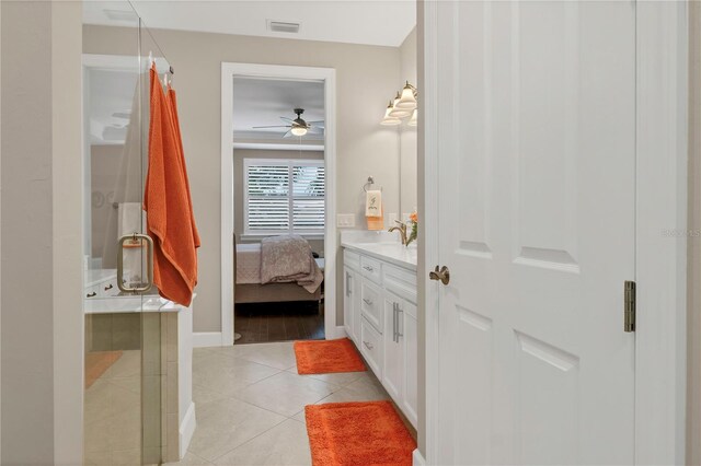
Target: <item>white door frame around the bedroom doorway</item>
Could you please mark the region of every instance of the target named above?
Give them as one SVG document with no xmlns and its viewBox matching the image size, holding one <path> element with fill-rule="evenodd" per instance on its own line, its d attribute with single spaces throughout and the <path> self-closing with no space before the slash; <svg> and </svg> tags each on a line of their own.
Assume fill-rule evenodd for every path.
<svg viewBox="0 0 701 466">
<path fill-rule="evenodd" d="M 324 330 L 342 337 L 336 326 L 336 70 L 281 65 L 221 63 L 221 345 L 233 345 L 233 77 L 324 82 Z"/>
</svg>

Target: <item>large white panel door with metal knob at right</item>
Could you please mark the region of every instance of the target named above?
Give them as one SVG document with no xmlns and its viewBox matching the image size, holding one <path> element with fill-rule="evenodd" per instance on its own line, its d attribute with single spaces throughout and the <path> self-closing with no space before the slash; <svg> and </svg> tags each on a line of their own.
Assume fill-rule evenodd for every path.
<svg viewBox="0 0 701 466">
<path fill-rule="evenodd" d="M 436 9 L 437 81 L 426 85 L 438 179 L 427 189 L 451 279 L 435 284 L 429 457 L 633 464 L 623 283 L 634 279 L 635 5 Z"/>
</svg>

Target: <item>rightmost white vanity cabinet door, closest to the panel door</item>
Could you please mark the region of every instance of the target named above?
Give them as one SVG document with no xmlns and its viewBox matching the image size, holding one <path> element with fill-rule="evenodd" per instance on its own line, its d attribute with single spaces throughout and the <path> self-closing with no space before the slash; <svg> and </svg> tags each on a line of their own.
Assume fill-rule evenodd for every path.
<svg viewBox="0 0 701 466">
<path fill-rule="evenodd" d="M 404 358 L 402 399 L 399 404 L 406 419 L 416 427 L 418 409 L 418 335 L 416 306 L 404 302 L 399 313 L 399 340 Z"/>
</svg>

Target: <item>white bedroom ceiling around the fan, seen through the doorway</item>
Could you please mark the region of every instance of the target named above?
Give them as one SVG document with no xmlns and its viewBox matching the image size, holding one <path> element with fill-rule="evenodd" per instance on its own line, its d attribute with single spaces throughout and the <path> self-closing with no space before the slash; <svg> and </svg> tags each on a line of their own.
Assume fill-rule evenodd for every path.
<svg viewBox="0 0 701 466">
<path fill-rule="evenodd" d="M 233 79 L 233 133 L 235 140 L 279 141 L 288 128 L 254 129 L 254 126 L 288 125 L 281 116 L 296 118 L 294 108 L 303 108 L 306 121 L 324 119 L 324 84 L 315 81 L 284 81 L 260 78 Z M 297 138 L 294 138 L 297 139 Z M 323 140 L 323 136 L 304 136 Z"/>
</svg>

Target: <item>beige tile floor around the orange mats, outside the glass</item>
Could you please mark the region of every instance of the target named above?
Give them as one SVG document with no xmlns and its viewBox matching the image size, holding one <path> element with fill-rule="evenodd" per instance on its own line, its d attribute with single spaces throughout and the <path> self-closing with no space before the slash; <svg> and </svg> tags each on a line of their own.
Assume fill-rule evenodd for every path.
<svg viewBox="0 0 701 466">
<path fill-rule="evenodd" d="M 389 398 L 370 371 L 298 375 L 291 341 L 195 349 L 193 397 L 189 451 L 169 465 L 308 465 L 304 405 Z"/>
</svg>

